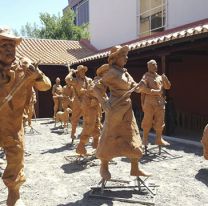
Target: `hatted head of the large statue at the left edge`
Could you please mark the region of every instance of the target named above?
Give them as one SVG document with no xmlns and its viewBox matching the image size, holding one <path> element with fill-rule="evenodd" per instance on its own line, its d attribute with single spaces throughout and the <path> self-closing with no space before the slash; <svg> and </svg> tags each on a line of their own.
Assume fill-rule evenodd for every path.
<svg viewBox="0 0 208 206">
<path fill-rule="evenodd" d="M 9 65 L 15 60 L 16 46 L 21 42 L 20 37 L 12 34 L 8 28 L 0 28 L 0 62 Z"/>
</svg>

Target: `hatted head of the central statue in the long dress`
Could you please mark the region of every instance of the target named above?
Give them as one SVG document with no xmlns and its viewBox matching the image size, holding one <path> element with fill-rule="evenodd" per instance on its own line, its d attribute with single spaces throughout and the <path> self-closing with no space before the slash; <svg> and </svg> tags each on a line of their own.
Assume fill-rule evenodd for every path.
<svg viewBox="0 0 208 206">
<path fill-rule="evenodd" d="M 115 46 L 111 49 L 110 55 L 108 57 L 108 62 L 111 65 L 116 65 L 123 68 L 128 60 L 129 47 L 125 46 Z"/>
</svg>

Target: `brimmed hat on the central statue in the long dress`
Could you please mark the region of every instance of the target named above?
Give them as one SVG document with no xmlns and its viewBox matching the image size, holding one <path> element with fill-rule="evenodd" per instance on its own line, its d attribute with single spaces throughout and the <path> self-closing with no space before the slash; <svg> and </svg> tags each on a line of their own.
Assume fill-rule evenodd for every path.
<svg viewBox="0 0 208 206">
<path fill-rule="evenodd" d="M 123 55 L 127 55 L 129 52 L 129 47 L 128 45 L 125 46 L 114 46 L 111 48 L 110 50 L 110 54 L 108 57 L 108 62 L 110 63 L 113 59 L 119 57 L 119 56 L 123 56 Z"/>
</svg>

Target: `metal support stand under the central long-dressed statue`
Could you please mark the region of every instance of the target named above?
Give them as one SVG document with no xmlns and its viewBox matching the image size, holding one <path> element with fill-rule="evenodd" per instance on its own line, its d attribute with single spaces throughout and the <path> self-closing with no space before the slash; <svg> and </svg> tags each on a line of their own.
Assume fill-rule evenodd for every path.
<svg viewBox="0 0 208 206">
<path fill-rule="evenodd" d="M 134 180 L 136 183 L 135 185 L 130 184 L 132 181 L 102 179 L 98 183 L 98 186 L 91 187 L 89 196 L 94 198 L 117 200 L 121 202 L 155 205 L 156 188 L 158 185 L 146 183 L 147 179 L 148 178 L 142 180 L 140 177 L 136 177 Z M 107 182 L 111 182 L 114 185 L 106 186 Z M 122 197 L 124 193 L 126 194 L 125 196 L 129 196 L 129 198 Z"/>
</svg>

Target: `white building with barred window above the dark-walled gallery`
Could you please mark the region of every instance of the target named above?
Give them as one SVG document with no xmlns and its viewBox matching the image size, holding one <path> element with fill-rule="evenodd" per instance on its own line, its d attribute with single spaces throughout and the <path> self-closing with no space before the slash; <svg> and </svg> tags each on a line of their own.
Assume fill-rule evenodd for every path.
<svg viewBox="0 0 208 206">
<path fill-rule="evenodd" d="M 208 0 L 76 1 L 77 5 L 86 2 L 90 41 L 97 49 L 208 18 Z"/>
</svg>

